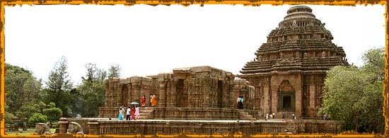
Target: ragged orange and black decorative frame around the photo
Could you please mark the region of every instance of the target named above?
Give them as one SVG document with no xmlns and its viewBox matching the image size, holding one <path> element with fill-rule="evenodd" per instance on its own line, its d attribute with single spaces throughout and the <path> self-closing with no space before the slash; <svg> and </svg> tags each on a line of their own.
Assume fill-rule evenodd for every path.
<svg viewBox="0 0 389 138">
<path fill-rule="evenodd" d="M 374 135 L 374 134 L 337 134 L 337 135 L 328 135 L 328 134 L 255 134 L 255 135 L 242 135 L 242 134 L 233 134 L 233 137 L 389 137 L 389 47 L 388 47 L 388 1 L 385 0 L 339 0 L 339 1 L 319 1 L 319 0 L 284 0 L 284 1 L 277 1 L 277 0 L 127 0 L 127 1 L 120 1 L 120 0 L 110 0 L 110 1 L 103 1 L 103 0 L 60 0 L 60 1 L 54 1 L 54 0 L 0 0 L 1 2 L 1 13 L 0 13 L 0 29 L 1 29 L 1 37 L 0 37 L 0 62 L 1 62 L 1 71 L 0 71 L 0 82 L 1 82 L 1 95 L 0 95 L 0 102 L 1 102 L 1 112 L 0 112 L 0 137 L 41 137 L 40 135 L 28 135 L 28 136 L 18 136 L 18 135 L 6 135 L 5 134 L 5 125 L 4 125 L 4 118 L 5 118 L 5 109 L 4 109 L 4 103 L 5 103 L 5 93 L 4 93 L 4 6 L 15 6 L 15 5 L 22 5 L 22 4 L 36 4 L 36 5 L 42 5 L 42 4 L 100 4 L 100 5 L 115 5 L 115 4 L 124 4 L 126 6 L 131 6 L 134 4 L 149 4 L 149 5 L 170 5 L 170 4 L 181 4 L 183 6 L 188 6 L 190 4 L 243 4 L 245 6 L 260 6 L 260 4 L 272 4 L 272 5 L 282 5 L 282 4 L 324 4 L 324 5 L 337 5 L 337 6 L 354 6 L 356 4 L 382 4 L 385 5 L 385 81 L 383 81 L 383 115 L 385 116 L 385 134 L 382 135 Z M 187 135 L 179 135 L 179 134 L 172 134 L 172 135 L 162 135 L 162 134 L 156 134 L 156 135 L 144 135 L 143 137 L 210 137 L 210 135 L 203 135 L 203 134 L 187 134 Z M 45 136 L 43 136 L 45 137 Z M 50 137 L 50 136 L 49 136 Z M 70 135 L 63 135 L 59 134 L 54 137 L 71 137 Z M 73 137 L 80 137 L 80 136 L 73 136 Z M 87 135 L 87 137 L 141 137 L 141 135 Z M 211 137 L 228 137 L 226 135 L 220 135 L 220 134 L 214 134 L 211 135 Z"/>
</svg>

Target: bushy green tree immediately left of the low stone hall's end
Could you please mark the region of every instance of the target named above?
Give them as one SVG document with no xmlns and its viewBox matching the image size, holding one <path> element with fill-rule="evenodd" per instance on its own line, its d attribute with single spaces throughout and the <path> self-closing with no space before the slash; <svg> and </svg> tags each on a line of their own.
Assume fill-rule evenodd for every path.
<svg viewBox="0 0 389 138">
<path fill-rule="evenodd" d="M 81 77 L 82 83 L 77 91 L 83 98 L 81 108 L 82 116 L 97 117 L 98 108 L 103 107 L 105 101 L 105 79 L 107 72 L 98 69 L 95 64 L 86 64 L 86 76 Z"/>
</svg>

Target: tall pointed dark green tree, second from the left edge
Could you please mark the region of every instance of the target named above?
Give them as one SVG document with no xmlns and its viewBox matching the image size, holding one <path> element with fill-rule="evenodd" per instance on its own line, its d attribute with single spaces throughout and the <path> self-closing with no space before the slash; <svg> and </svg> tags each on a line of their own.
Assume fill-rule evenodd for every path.
<svg viewBox="0 0 389 138">
<path fill-rule="evenodd" d="M 71 116 L 71 95 L 70 90 L 72 83 L 69 73 L 66 71 L 66 57 L 61 57 L 54 64 L 54 69 L 50 71 L 49 79 L 46 82 L 47 87 L 44 89 L 46 93 L 46 103 L 55 103 L 58 108 L 61 108 L 64 117 Z"/>
</svg>

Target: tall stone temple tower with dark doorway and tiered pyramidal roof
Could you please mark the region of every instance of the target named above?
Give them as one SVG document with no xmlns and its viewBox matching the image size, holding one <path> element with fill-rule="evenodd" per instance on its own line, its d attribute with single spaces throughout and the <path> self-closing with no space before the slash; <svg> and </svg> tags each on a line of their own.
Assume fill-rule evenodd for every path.
<svg viewBox="0 0 389 138">
<path fill-rule="evenodd" d="M 240 71 L 239 77 L 255 87 L 252 104 L 262 115 L 317 117 L 326 71 L 348 65 L 324 25 L 308 6 L 290 8 L 255 52 L 256 60 Z"/>
</svg>

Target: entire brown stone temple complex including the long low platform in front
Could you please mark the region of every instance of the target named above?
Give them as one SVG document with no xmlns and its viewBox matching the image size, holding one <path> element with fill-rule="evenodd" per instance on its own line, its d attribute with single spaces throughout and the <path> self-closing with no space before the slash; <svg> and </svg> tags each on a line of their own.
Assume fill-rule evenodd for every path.
<svg viewBox="0 0 389 138">
<path fill-rule="evenodd" d="M 317 113 L 326 71 L 349 64 L 324 25 L 308 6 L 291 7 L 241 74 L 203 66 L 110 78 L 101 118 L 69 121 L 91 134 L 337 133 L 339 123 L 317 120 Z M 156 107 L 149 107 L 152 94 Z M 141 120 L 117 121 L 120 105 L 140 103 L 141 96 L 146 96 L 147 107 L 139 109 Z M 244 98 L 243 109 L 237 109 L 238 96 Z M 267 113 L 285 120 L 265 121 Z M 66 118 L 61 121 L 62 132 L 67 123 Z"/>
</svg>

